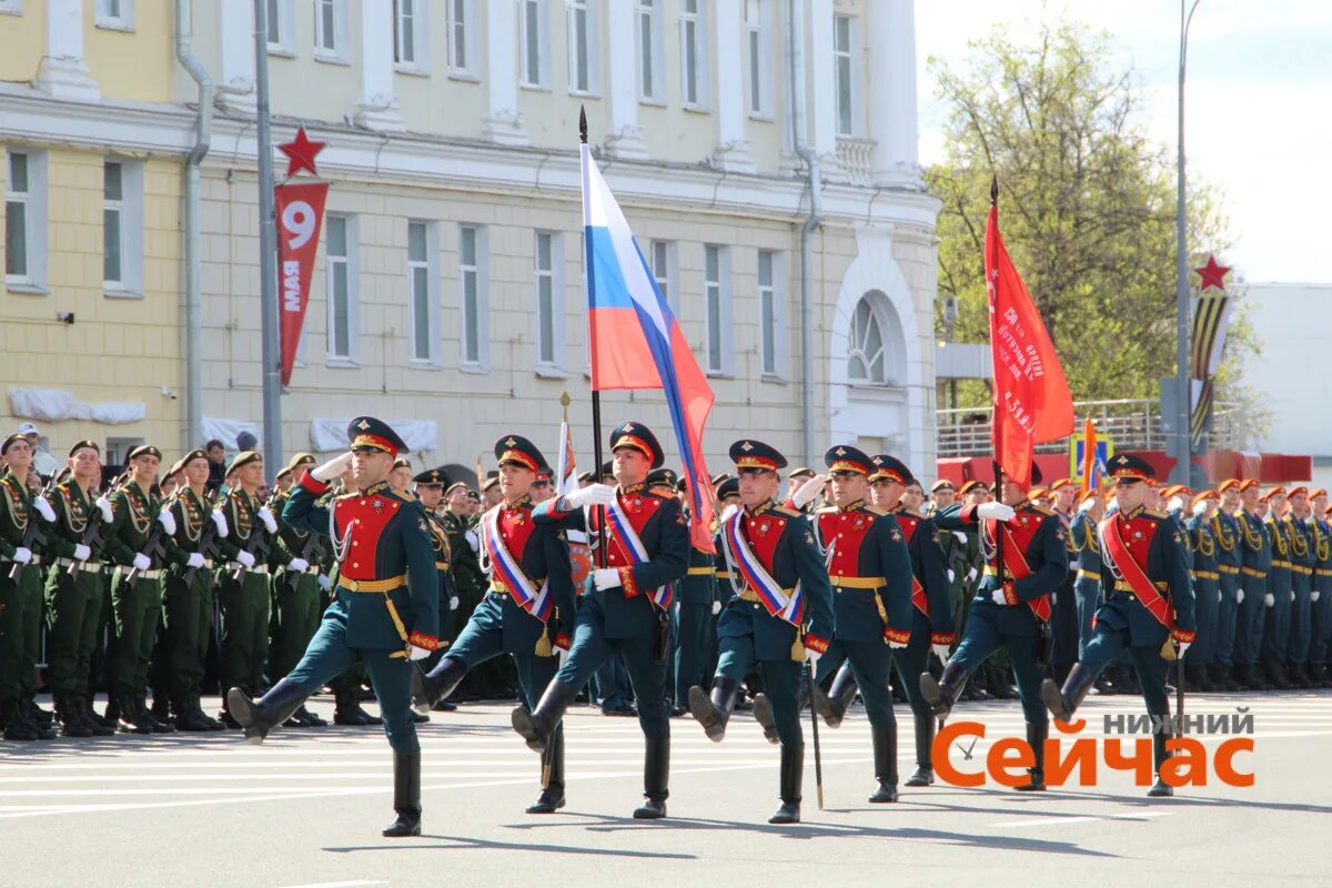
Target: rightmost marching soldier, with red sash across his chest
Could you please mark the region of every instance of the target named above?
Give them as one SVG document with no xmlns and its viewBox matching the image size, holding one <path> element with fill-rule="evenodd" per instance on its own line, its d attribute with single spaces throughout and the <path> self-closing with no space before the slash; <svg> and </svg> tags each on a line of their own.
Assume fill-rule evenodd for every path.
<svg viewBox="0 0 1332 888">
<path fill-rule="evenodd" d="M 1051 714 L 1068 722 L 1100 670 L 1128 648 L 1147 712 L 1159 716 L 1160 726 L 1152 738 L 1156 783 L 1147 795 L 1168 796 L 1175 791 L 1160 777 L 1169 739 L 1166 667 L 1167 659 L 1184 656 L 1193 643 L 1193 590 L 1179 522 L 1143 505 L 1144 482 L 1154 475 L 1151 465 L 1138 457 L 1119 454 L 1110 461 L 1118 510 L 1099 529 L 1106 592 L 1096 608 L 1096 634 L 1063 688 L 1046 679 L 1040 692 Z"/>
</svg>

